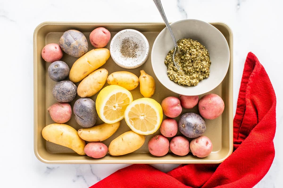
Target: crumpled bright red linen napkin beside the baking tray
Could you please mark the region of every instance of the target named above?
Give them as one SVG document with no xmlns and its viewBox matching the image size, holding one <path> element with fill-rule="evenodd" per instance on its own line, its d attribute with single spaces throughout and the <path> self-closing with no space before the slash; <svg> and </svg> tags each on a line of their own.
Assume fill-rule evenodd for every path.
<svg viewBox="0 0 283 188">
<path fill-rule="evenodd" d="M 258 58 L 249 52 L 233 122 L 234 152 L 224 162 L 180 165 L 168 173 L 151 165 L 134 164 L 91 188 L 253 187 L 267 173 L 275 155 L 275 107 L 276 97 L 269 77 Z"/>
</svg>

